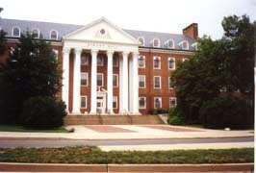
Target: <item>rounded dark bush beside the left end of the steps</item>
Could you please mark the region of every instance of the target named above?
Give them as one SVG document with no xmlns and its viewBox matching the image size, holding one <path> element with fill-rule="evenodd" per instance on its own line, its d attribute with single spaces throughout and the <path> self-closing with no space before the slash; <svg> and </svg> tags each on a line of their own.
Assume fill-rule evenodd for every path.
<svg viewBox="0 0 256 173">
<path fill-rule="evenodd" d="M 33 129 L 52 129 L 64 124 L 66 115 L 63 101 L 53 97 L 32 97 L 24 102 L 20 122 Z"/>
</svg>

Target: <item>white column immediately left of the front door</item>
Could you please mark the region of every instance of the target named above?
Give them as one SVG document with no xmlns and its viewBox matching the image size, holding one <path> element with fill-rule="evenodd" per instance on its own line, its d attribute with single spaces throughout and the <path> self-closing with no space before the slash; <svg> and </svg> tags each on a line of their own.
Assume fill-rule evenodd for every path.
<svg viewBox="0 0 256 173">
<path fill-rule="evenodd" d="M 97 54 L 98 50 L 91 50 L 91 72 L 90 72 L 90 114 L 96 113 L 97 97 Z"/>
</svg>

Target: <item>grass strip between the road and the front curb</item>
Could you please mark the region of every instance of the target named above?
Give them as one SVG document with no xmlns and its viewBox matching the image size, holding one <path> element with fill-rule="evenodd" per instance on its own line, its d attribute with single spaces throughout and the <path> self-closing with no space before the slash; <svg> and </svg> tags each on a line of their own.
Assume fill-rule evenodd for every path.
<svg viewBox="0 0 256 173">
<path fill-rule="evenodd" d="M 94 146 L 0 148 L 2 162 L 39 163 L 238 163 L 253 162 L 254 149 L 111 151 Z"/>
</svg>

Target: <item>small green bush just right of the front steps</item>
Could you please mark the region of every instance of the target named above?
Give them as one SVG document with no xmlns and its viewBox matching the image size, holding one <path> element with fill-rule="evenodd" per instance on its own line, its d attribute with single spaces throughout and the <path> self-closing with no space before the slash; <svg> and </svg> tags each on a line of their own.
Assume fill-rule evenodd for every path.
<svg viewBox="0 0 256 173">
<path fill-rule="evenodd" d="M 177 108 L 171 108 L 168 111 L 168 124 L 171 125 L 183 125 L 185 124 L 185 118 L 184 116 L 178 111 Z"/>
</svg>

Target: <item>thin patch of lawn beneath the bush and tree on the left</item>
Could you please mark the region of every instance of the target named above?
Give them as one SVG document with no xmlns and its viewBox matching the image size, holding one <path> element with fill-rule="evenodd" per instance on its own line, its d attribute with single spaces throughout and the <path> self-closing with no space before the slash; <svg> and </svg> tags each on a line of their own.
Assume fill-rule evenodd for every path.
<svg viewBox="0 0 256 173">
<path fill-rule="evenodd" d="M 50 130 L 36 130 L 36 129 L 27 129 L 23 126 L 15 125 L 0 125 L 0 132 L 30 132 L 30 133 L 68 133 L 64 127 L 50 129 Z"/>
</svg>

